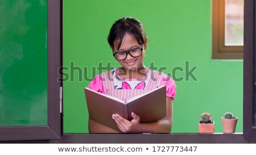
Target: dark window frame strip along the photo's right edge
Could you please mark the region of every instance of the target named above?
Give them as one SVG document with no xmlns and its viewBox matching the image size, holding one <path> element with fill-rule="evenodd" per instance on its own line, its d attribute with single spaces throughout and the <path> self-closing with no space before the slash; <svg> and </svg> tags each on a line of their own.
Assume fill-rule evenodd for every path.
<svg viewBox="0 0 256 155">
<path fill-rule="evenodd" d="M 243 59 L 243 137 L 256 140 L 255 3 L 245 1 L 245 57 Z"/>
</svg>

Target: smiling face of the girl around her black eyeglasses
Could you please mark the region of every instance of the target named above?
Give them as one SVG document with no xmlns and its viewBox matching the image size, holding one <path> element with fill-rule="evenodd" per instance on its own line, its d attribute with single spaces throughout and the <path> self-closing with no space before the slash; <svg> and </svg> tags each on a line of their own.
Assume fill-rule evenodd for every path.
<svg viewBox="0 0 256 155">
<path fill-rule="evenodd" d="M 146 44 L 146 43 L 145 43 Z M 126 33 L 125 36 L 123 36 L 123 41 L 120 46 L 120 48 L 117 50 L 118 41 L 114 42 L 114 49 L 113 52 L 121 52 L 121 51 L 127 51 L 129 49 L 134 48 L 141 48 L 142 45 L 140 45 L 135 39 L 134 36 L 131 36 L 129 33 Z M 126 68 L 127 70 L 137 70 L 139 67 L 143 67 L 143 58 L 144 58 L 144 48 L 143 46 L 142 55 L 139 57 L 132 57 L 129 53 L 127 53 L 127 57 L 125 60 L 118 61 L 120 65 L 123 66 L 123 68 Z"/>
</svg>

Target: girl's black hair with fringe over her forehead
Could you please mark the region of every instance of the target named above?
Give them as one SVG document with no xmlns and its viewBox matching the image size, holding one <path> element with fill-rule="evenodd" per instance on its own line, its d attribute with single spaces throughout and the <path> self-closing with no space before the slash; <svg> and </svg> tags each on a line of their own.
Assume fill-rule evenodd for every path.
<svg viewBox="0 0 256 155">
<path fill-rule="evenodd" d="M 138 19 L 131 18 L 131 17 L 124 17 L 118 19 L 114 22 L 113 26 L 110 29 L 109 36 L 108 36 L 108 43 L 111 48 L 114 48 L 114 41 L 118 40 L 117 49 L 120 48 L 123 36 L 125 33 L 129 33 L 130 35 L 134 36 L 137 39 L 138 43 L 144 44 L 146 39 L 146 32 L 141 22 Z"/>
</svg>

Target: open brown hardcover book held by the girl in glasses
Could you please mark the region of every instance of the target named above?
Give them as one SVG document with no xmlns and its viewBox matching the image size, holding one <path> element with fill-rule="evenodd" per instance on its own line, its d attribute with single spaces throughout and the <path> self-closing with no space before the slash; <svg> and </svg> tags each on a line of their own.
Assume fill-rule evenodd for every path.
<svg viewBox="0 0 256 155">
<path fill-rule="evenodd" d="M 166 86 L 127 99 L 126 102 L 87 87 L 84 90 L 89 118 L 116 131 L 120 130 L 112 119 L 113 114 L 132 120 L 131 112 L 134 112 L 140 117 L 140 123 L 156 122 L 166 117 Z"/>
</svg>

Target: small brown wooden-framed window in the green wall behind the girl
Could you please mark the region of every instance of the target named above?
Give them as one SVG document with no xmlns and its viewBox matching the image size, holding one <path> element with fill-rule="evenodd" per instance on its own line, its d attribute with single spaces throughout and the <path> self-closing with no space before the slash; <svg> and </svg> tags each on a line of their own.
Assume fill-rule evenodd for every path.
<svg viewBox="0 0 256 155">
<path fill-rule="evenodd" d="M 212 58 L 243 58 L 243 1 L 212 1 Z"/>
</svg>

